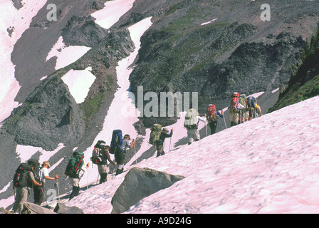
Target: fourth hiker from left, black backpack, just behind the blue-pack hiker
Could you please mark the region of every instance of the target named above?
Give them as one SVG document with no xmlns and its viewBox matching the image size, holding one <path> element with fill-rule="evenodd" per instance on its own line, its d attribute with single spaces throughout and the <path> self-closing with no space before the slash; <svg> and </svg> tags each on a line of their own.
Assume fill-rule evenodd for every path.
<svg viewBox="0 0 319 228">
<path fill-rule="evenodd" d="M 100 175 L 100 184 L 106 182 L 108 177 L 108 161 L 113 165 L 117 165 L 117 162 L 113 162 L 110 158 L 110 146 L 105 145 L 105 142 L 99 140 L 93 150 L 93 156 L 91 160 L 93 164 L 98 165 L 98 173 Z"/>
</svg>

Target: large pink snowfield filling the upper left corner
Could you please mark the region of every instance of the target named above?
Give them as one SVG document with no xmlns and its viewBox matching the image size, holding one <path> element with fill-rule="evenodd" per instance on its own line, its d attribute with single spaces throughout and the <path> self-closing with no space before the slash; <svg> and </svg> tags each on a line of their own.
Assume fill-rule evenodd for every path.
<svg viewBox="0 0 319 228">
<path fill-rule="evenodd" d="M 30 26 L 33 16 L 46 4 L 46 0 L 25 0 L 23 7 L 17 10 L 12 1 L 0 2 L 0 123 L 11 115 L 11 111 L 18 103 L 14 101 L 20 86 L 14 78 L 14 65 L 11 62 L 11 53 L 14 44 L 19 40 L 22 33 Z M 7 28 L 14 29 L 11 33 Z"/>
</svg>

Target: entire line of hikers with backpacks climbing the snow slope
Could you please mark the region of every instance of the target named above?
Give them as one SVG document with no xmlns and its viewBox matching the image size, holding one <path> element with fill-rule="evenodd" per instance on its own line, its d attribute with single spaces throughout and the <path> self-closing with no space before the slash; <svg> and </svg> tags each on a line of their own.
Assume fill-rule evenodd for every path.
<svg viewBox="0 0 319 228">
<path fill-rule="evenodd" d="M 256 118 L 261 113 L 261 108 L 257 103 L 256 98 L 253 96 L 246 97 L 245 94 L 233 93 L 231 95 L 231 103 L 226 108 L 230 110 L 230 126 L 238 125 L 239 123 L 244 123 L 248 120 Z M 224 118 L 223 110 L 216 110 L 216 105 L 209 104 L 206 108 L 206 113 L 204 117 L 200 117 L 197 110 L 191 108 L 185 114 L 184 128 L 187 129 L 188 145 L 192 144 L 194 141 L 200 140 L 199 135 L 199 121 L 202 121 L 210 128 L 210 135 L 216 133 L 218 117 L 224 119 L 225 128 L 226 121 Z M 154 124 L 150 128 L 150 140 L 149 143 L 155 146 L 157 151 L 156 157 L 160 157 L 165 154 L 164 152 L 164 142 L 166 138 L 171 138 L 174 129 L 172 128 L 169 132 L 167 128 L 162 128 L 160 124 Z M 207 135 L 207 128 L 206 128 Z M 110 146 L 106 145 L 106 142 L 99 140 L 93 149 L 92 157 L 90 160 L 94 165 L 98 165 L 98 173 L 100 175 L 100 184 L 107 181 L 108 176 L 108 162 L 115 165 L 117 170 L 115 175 L 119 175 L 124 172 L 124 160 L 127 150 L 132 149 L 135 146 L 135 139 L 130 142 L 130 135 L 124 135 L 122 137 L 122 130 L 113 130 L 112 140 Z M 169 141 L 169 150 L 171 147 L 171 140 Z M 115 157 L 115 162 L 111 160 L 110 154 Z M 136 151 L 135 151 L 136 156 Z M 86 170 L 90 166 L 90 162 L 84 165 L 84 153 L 79 150 L 75 150 L 68 161 L 66 166 L 65 175 L 68 176 L 70 183 L 72 185 L 72 192 L 70 193 L 70 199 L 77 196 L 80 192 L 80 179 L 83 177 Z M 43 198 L 45 198 L 43 186 L 45 180 L 58 180 L 58 175 L 56 177 L 49 177 L 48 168 L 50 164 L 45 161 L 42 166 L 38 160 L 30 159 L 27 162 L 21 163 L 16 173 L 14 175 L 14 190 L 15 191 L 15 202 L 14 202 L 14 213 L 21 212 L 24 202 L 26 202 L 28 190 L 33 188 L 35 203 L 41 205 Z M 58 181 L 57 181 L 58 186 Z"/>
</svg>

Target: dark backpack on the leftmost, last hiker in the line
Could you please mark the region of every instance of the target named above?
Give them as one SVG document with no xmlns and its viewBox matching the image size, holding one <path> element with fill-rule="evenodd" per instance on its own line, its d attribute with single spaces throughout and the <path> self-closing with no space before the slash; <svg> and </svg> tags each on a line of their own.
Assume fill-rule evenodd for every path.
<svg viewBox="0 0 319 228">
<path fill-rule="evenodd" d="M 14 174 L 14 187 L 32 187 L 31 171 L 31 166 L 28 163 L 21 163 Z"/>
</svg>

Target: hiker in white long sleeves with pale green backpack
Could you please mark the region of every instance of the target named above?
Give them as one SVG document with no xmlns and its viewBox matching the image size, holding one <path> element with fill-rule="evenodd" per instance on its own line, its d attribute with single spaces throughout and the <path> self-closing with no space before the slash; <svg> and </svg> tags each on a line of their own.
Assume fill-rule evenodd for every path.
<svg viewBox="0 0 319 228">
<path fill-rule="evenodd" d="M 198 130 L 199 121 L 206 122 L 206 117 L 201 118 L 197 110 L 194 108 L 189 109 L 185 115 L 184 122 L 184 127 L 187 129 L 187 138 L 189 139 L 188 145 L 201 139 Z"/>
</svg>

